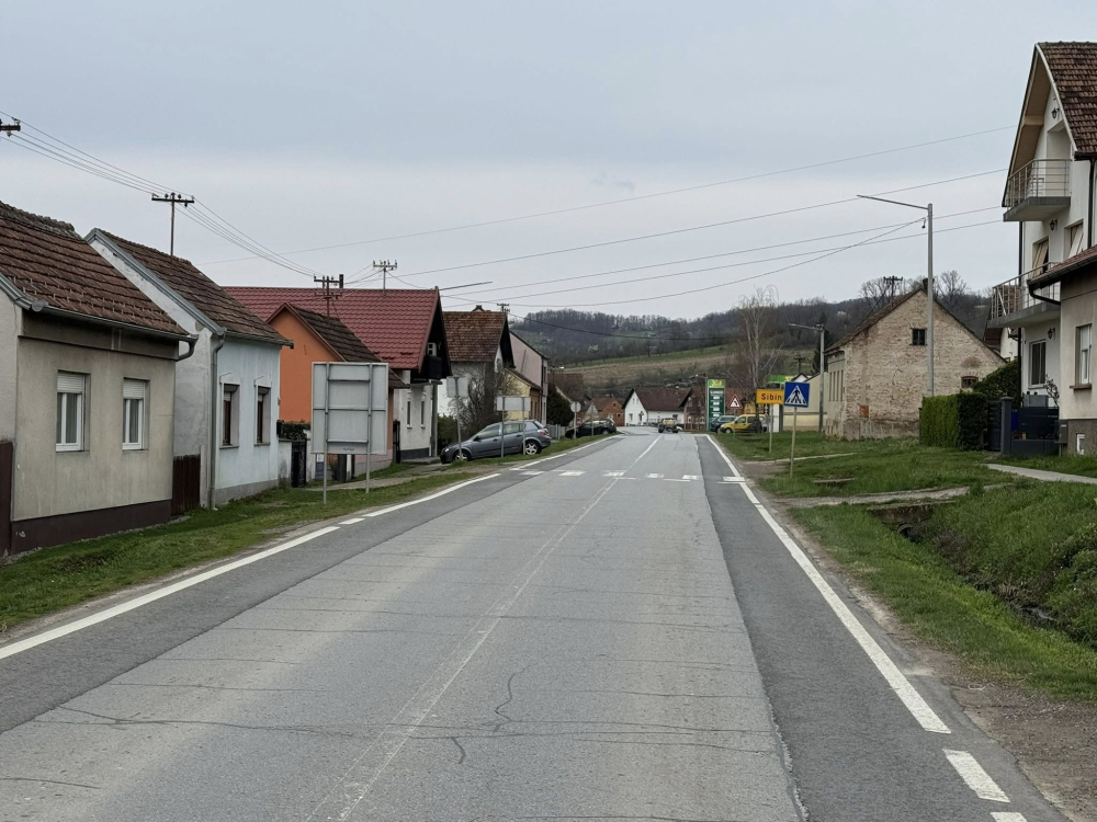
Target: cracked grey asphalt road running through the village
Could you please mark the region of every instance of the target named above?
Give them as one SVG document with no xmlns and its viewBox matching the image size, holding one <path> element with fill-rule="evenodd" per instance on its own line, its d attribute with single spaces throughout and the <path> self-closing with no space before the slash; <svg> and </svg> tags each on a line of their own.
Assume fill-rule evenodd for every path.
<svg viewBox="0 0 1097 822">
<path fill-rule="evenodd" d="M 0 822 L 1063 822 L 736 473 L 630 430 L 0 659 Z"/>
</svg>

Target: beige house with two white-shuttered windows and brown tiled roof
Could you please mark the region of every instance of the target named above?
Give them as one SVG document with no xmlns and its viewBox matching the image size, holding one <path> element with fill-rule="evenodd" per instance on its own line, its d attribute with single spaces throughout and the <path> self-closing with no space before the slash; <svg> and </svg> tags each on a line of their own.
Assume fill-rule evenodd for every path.
<svg viewBox="0 0 1097 822">
<path fill-rule="evenodd" d="M 72 226 L 0 204 L 0 556 L 171 516 L 195 342 Z"/>
</svg>

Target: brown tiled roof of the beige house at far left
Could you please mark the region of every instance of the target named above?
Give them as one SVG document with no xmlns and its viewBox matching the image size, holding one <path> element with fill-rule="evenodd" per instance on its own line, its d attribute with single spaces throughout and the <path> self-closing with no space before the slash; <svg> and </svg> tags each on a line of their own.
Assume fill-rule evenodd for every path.
<svg viewBox="0 0 1097 822">
<path fill-rule="evenodd" d="M 68 222 L 0 203 L 0 276 L 30 299 L 101 320 L 185 336 Z"/>
</svg>

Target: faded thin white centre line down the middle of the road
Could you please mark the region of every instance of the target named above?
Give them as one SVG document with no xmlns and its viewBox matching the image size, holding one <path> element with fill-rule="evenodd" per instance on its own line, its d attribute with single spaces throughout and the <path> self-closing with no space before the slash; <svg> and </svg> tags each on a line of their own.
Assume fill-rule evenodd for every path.
<svg viewBox="0 0 1097 822">
<path fill-rule="evenodd" d="M 434 669 L 427 677 L 426 682 L 411 696 L 400 711 L 386 723 L 386 730 L 374 738 L 365 750 L 354 760 L 349 768 L 343 772 L 340 784 L 332 788 L 308 814 L 305 822 L 313 820 L 346 820 L 354 809 L 365 799 L 374 783 L 388 767 L 388 763 L 400 752 L 404 743 L 415 733 L 419 724 L 427 718 L 438 700 L 442 698 L 454 680 L 461 675 L 465 666 L 479 650 L 480 646 L 495 630 L 496 626 L 502 621 L 507 612 L 518 602 L 522 592 L 529 587 L 534 576 L 541 571 L 548 558 L 558 548 L 583 521 L 583 518 L 593 510 L 595 505 L 601 502 L 602 498 L 609 493 L 617 480 L 607 482 L 606 486 L 595 494 L 587 503 L 581 513 L 570 523 L 565 523 L 546 539 L 536 552 L 522 566 L 514 578 L 513 587 L 505 597 L 497 601 L 484 615 L 476 620 L 476 624 L 462 637 L 450 655 Z M 530 569 L 527 573 L 527 569 Z"/>
</svg>

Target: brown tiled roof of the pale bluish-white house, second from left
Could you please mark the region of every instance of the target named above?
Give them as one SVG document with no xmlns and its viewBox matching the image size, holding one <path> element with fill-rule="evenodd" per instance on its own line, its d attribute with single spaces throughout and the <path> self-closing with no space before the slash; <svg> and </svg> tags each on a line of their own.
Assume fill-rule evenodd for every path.
<svg viewBox="0 0 1097 822">
<path fill-rule="evenodd" d="M 148 269 L 177 294 L 229 332 L 270 340 L 271 342 L 285 342 L 278 331 L 256 317 L 226 289 L 195 269 L 190 260 L 170 256 L 157 249 L 103 231 L 101 228 L 95 229 L 92 236 L 95 233 L 103 235 L 118 250 Z"/>
</svg>

